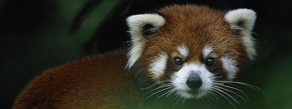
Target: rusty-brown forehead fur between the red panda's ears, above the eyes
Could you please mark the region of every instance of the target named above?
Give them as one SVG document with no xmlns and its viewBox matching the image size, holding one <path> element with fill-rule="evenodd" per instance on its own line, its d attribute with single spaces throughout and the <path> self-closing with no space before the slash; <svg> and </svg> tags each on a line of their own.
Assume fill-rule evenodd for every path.
<svg viewBox="0 0 292 109">
<path fill-rule="evenodd" d="M 240 41 L 225 21 L 224 12 L 196 5 L 167 6 L 158 12 L 164 17 L 165 24 L 146 42 L 145 53 L 157 50 L 179 52 L 177 47 L 184 45 L 189 48 L 189 60 L 199 61 L 203 47 L 209 45 L 218 54 L 223 55 L 228 50 L 231 57 L 240 55 Z"/>
</svg>

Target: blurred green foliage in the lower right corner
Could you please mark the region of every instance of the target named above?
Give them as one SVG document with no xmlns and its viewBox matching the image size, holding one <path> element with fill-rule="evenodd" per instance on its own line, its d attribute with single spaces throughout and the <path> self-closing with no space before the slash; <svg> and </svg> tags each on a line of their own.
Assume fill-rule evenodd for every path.
<svg viewBox="0 0 292 109">
<path fill-rule="evenodd" d="M 274 63 L 265 84 L 264 104 L 266 109 L 292 108 L 292 57 L 281 58 Z"/>
</svg>

